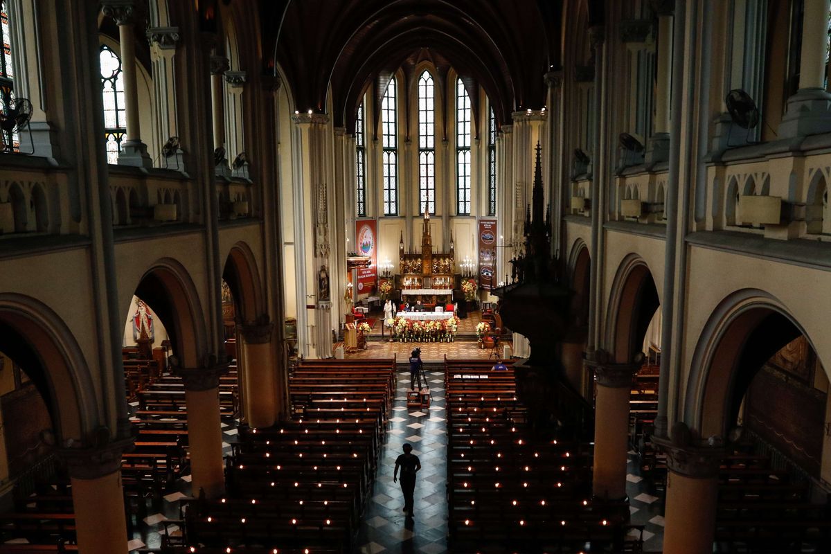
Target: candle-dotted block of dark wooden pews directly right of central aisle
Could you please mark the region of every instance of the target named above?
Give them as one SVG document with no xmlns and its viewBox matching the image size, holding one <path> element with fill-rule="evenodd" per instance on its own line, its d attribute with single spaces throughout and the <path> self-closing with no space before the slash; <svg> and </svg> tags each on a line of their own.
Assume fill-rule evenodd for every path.
<svg viewBox="0 0 831 554">
<path fill-rule="evenodd" d="M 595 505 L 592 448 L 532 434 L 513 368 L 445 360 L 454 552 L 641 552 L 642 527 Z"/>
</svg>

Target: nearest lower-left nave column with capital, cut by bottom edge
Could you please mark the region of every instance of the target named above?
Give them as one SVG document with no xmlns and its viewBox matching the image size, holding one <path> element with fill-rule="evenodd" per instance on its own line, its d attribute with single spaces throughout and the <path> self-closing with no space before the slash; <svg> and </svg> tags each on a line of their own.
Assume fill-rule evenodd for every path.
<svg viewBox="0 0 831 554">
<path fill-rule="evenodd" d="M 121 488 L 121 454 L 133 439 L 94 449 L 61 449 L 72 484 L 78 550 L 85 554 L 126 554 L 127 520 Z"/>
</svg>

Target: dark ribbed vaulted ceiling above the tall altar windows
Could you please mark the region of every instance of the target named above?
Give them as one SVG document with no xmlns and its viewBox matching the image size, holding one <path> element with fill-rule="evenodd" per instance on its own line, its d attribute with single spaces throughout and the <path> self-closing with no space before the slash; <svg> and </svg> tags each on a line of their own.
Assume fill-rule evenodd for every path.
<svg viewBox="0 0 831 554">
<path fill-rule="evenodd" d="M 261 0 L 263 51 L 274 51 L 295 109 L 352 128 L 361 95 L 430 57 L 487 92 L 497 120 L 545 104 L 560 66 L 562 0 Z M 446 74 L 446 71 L 445 71 Z"/>
</svg>

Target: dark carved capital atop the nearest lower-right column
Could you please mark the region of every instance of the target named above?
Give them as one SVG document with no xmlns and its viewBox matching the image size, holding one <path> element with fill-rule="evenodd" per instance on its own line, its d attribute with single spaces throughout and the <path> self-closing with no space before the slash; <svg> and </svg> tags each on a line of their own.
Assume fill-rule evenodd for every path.
<svg viewBox="0 0 831 554">
<path fill-rule="evenodd" d="M 696 479 L 714 478 L 718 475 L 721 458 L 726 454 L 720 441 L 711 440 L 714 444 L 696 444 L 691 440 L 686 425 L 679 423 L 672 426 L 671 434 L 671 439 L 652 437 L 658 449 L 666 453 L 666 467 L 671 472 Z"/>
</svg>

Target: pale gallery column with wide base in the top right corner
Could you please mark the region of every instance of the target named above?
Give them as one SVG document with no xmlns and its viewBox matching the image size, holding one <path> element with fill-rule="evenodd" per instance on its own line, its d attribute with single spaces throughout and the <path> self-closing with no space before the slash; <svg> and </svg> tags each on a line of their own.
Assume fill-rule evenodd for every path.
<svg viewBox="0 0 831 554">
<path fill-rule="evenodd" d="M 831 95 L 824 86 L 829 8 L 829 0 L 804 2 L 799 91 L 788 99 L 787 113 L 779 125 L 779 138 L 831 131 Z"/>
</svg>

